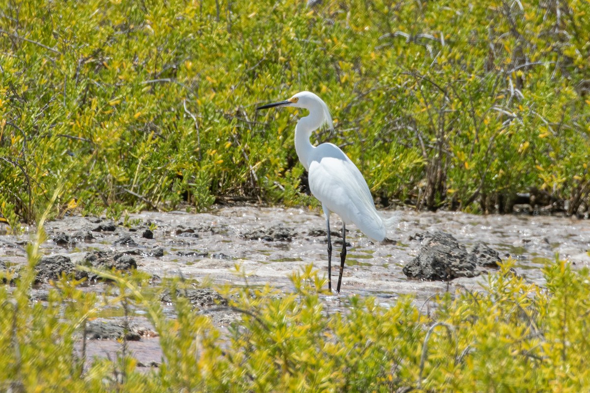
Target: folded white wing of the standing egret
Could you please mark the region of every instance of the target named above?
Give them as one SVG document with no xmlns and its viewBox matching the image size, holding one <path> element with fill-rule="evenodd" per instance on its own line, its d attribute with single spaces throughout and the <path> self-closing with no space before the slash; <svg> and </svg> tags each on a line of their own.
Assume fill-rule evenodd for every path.
<svg viewBox="0 0 590 393">
<path fill-rule="evenodd" d="M 337 146 L 324 143 L 314 151 L 309 166 L 309 189 L 345 223 L 354 223 L 371 239 L 385 237 L 385 226 L 365 178 Z"/>
</svg>

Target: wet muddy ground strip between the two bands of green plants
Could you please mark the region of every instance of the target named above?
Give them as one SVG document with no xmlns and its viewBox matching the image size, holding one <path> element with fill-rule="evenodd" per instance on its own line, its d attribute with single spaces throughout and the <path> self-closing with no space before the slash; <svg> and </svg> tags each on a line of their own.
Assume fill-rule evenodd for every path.
<svg viewBox="0 0 590 393">
<path fill-rule="evenodd" d="M 394 212 L 384 211 L 388 216 Z M 402 267 L 414 258 L 421 245 L 412 240 L 425 230 L 442 230 L 460 243 L 470 246 L 483 240 L 500 253 L 502 259 L 517 260 L 516 272 L 529 282 L 543 285 L 541 268 L 558 253 L 573 266 L 590 265 L 590 221 L 555 216 L 489 215 L 466 213 L 398 212 L 398 226 L 388 233 L 388 241 L 373 244 L 354 226 L 346 235 L 347 263 L 342 294 L 372 295 L 384 304 L 399 295 L 411 294 L 421 304 L 432 293 L 448 289 L 445 282 L 409 280 Z M 244 285 L 235 275 L 235 264 L 250 273 L 250 285 L 270 284 L 286 292 L 292 289 L 289 275 L 313 263 L 327 274 L 325 220 L 319 211 L 270 207 L 221 207 L 209 213 L 146 212 L 133 214 L 123 223 L 97 217 L 65 217 L 48 222 L 48 240 L 42 245 L 46 255 L 67 255 L 81 261 L 87 252 L 130 253 L 137 269 L 159 277 L 178 276 L 214 285 Z M 9 268 L 26 261 L 24 245 L 30 234 L 12 236 L 0 227 L 0 261 Z M 332 240 L 340 222 L 332 217 Z M 34 232 L 31 229 L 31 232 Z M 333 277 L 337 278 L 340 244 L 334 246 Z M 463 285 L 477 289 L 485 275 L 451 281 L 451 290 Z M 36 290 L 43 290 L 44 285 Z M 87 290 L 100 291 L 101 285 Z M 42 298 L 42 296 L 41 296 Z M 327 306 L 338 306 L 339 297 L 326 296 Z M 107 312 L 108 314 L 108 312 Z M 117 316 L 114 311 L 112 317 Z M 109 317 L 109 315 L 104 315 Z M 217 316 L 219 326 L 231 322 L 231 315 Z M 141 343 L 145 343 L 142 346 Z M 142 336 L 133 342 L 132 351 L 140 362 L 159 361 L 158 339 Z M 119 348 L 115 342 L 93 341 L 89 355 L 109 354 Z"/>
</svg>

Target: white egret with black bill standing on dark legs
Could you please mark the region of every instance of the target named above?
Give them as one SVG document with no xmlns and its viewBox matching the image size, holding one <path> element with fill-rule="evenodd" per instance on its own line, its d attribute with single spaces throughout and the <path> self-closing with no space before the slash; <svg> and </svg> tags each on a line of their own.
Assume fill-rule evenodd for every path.
<svg viewBox="0 0 590 393">
<path fill-rule="evenodd" d="M 323 125 L 333 128 L 332 116 L 324 101 L 309 91 L 301 91 L 278 103 L 267 104 L 259 109 L 273 107 L 296 107 L 309 110 L 309 115 L 297 122 L 295 127 L 295 150 L 299 161 L 309 172 L 309 189 L 322 203 L 326 216 L 328 240 L 328 288 L 332 291 L 332 242 L 330 241 L 330 213 L 342 219 L 342 252 L 337 292 L 340 292 L 342 272 L 346 259 L 346 225 L 353 223 L 366 236 L 381 242 L 387 227 L 396 219 L 383 219 L 375 209 L 375 202 L 365 178 L 350 158 L 335 144 L 322 143 L 313 146 L 309 138 L 312 132 Z"/>
</svg>

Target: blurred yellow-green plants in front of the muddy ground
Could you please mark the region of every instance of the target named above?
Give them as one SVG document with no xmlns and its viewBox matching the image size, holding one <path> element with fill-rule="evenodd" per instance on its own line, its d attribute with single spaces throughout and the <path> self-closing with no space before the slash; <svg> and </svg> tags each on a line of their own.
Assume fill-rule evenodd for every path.
<svg viewBox="0 0 590 393">
<path fill-rule="evenodd" d="M 42 225 L 40 226 L 42 228 Z M 176 319 L 148 278 L 103 272 L 114 300 L 145 311 L 162 345 L 162 364 L 148 372 L 122 351 L 85 359 L 75 336 L 101 308 L 94 293 L 64 277 L 47 302 L 30 300 L 44 236 L 28 246 L 29 264 L 14 288 L 0 287 L 0 390 L 85 392 L 530 392 L 590 387 L 590 274 L 556 260 L 543 270 L 546 288 L 514 275 L 511 262 L 485 290 L 441 293 L 424 315 L 411 299 L 393 306 L 350 296 L 343 311 L 326 307 L 326 280 L 312 266 L 294 273 L 293 293 L 270 287 L 225 288 L 241 313 L 229 335 L 186 298 L 173 299 Z M 9 277 L 8 277 L 9 278 Z M 171 280 L 162 290 L 177 293 Z M 12 289 L 12 290 L 11 290 Z M 146 291 L 153 293 L 153 290 Z M 89 367 L 85 367 L 90 360 Z M 401 390 L 398 390 L 401 389 Z"/>
</svg>

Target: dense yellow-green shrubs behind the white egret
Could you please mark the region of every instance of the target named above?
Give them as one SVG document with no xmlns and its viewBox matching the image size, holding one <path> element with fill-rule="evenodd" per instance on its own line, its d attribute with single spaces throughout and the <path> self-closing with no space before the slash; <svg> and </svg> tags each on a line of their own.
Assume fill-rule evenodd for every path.
<svg viewBox="0 0 590 393">
<path fill-rule="evenodd" d="M 11 0 L 0 15 L 0 213 L 205 209 L 299 193 L 313 90 L 376 197 L 510 212 L 589 206 L 590 4 Z M 273 118 L 274 117 L 274 118 Z"/>
</svg>

